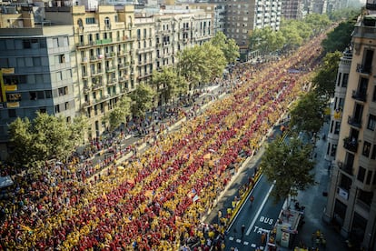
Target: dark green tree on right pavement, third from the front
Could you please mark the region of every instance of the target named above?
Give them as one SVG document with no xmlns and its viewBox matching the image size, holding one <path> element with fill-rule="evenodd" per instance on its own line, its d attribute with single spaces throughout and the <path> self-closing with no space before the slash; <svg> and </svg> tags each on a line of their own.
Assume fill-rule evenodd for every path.
<svg viewBox="0 0 376 251">
<path fill-rule="evenodd" d="M 324 56 L 319 71 L 312 78 L 312 84 L 317 89 L 319 95 L 325 95 L 327 97 L 334 95 L 340 59 L 341 53 L 338 51 L 328 53 Z"/>
</svg>

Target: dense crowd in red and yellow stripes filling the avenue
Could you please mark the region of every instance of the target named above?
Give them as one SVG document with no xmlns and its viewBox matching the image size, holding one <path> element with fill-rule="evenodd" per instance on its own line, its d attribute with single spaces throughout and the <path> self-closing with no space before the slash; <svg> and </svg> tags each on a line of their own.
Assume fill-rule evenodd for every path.
<svg viewBox="0 0 376 251">
<path fill-rule="evenodd" d="M 196 250 L 222 250 L 226 221 L 207 225 L 201 218 L 231 180 L 228 167 L 252 156 L 301 95 L 321 40 L 278 62 L 237 65 L 223 82 L 230 95 L 132 158 L 124 158 L 130 148 L 101 163 L 74 156 L 46 164 L 49 171 L 36 178 L 24 176 L 13 201 L 0 205 L 0 249 L 184 250 L 195 239 Z M 112 145 L 93 142 L 93 152 Z"/>
</svg>

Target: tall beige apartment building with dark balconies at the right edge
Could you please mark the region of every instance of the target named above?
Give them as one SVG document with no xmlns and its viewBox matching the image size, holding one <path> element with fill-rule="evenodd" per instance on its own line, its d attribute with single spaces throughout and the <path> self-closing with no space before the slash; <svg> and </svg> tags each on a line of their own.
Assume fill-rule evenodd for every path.
<svg viewBox="0 0 376 251">
<path fill-rule="evenodd" d="M 351 68 L 324 219 L 351 243 L 375 250 L 376 4 L 369 0 L 366 6 L 370 14 L 361 17 L 352 33 Z"/>
</svg>

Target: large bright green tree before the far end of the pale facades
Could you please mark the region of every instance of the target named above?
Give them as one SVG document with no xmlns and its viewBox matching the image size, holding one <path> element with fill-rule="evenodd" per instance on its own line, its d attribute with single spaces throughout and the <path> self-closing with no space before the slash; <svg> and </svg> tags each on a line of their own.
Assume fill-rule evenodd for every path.
<svg viewBox="0 0 376 251">
<path fill-rule="evenodd" d="M 203 73 L 209 74 L 203 49 L 199 45 L 193 45 L 179 52 L 177 69 L 178 74 L 182 75 L 190 86 L 189 89 L 199 85 Z"/>
</svg>

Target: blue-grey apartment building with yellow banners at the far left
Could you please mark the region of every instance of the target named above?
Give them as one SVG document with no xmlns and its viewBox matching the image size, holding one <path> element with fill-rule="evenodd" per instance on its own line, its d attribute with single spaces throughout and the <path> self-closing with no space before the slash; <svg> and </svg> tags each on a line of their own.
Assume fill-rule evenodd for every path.
<svg viewBox="0 0 376 251">
<path fill-rule="evenodd" d="M 7 8 L 7 7 L 6 7 Z M 35 25 L 27 6 L 0 15 L 0 157 L 7 155 L 7 126 L 35 112 L 75 115 L 75 56 L 72 25 Z"/>
</svg>

